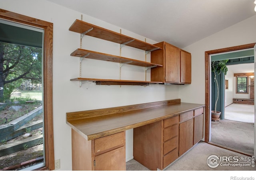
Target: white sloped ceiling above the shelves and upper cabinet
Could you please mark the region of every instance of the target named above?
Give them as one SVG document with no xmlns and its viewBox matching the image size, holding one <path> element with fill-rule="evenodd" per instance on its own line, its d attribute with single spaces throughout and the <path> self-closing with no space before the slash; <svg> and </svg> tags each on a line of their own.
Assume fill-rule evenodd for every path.
<svg viewBox="0 0 256 180">
<path fill-rule="evenodd" d="M 184 48 L 256 15 L 254 0 L 49 0 Z"/>
</svg>

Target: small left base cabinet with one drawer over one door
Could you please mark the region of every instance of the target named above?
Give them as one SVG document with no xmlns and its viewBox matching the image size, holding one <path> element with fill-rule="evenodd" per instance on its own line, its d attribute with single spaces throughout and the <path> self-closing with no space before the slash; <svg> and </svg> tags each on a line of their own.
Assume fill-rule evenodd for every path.
<svg viewBox="0 0 256 180">
<path fill-rule="evenodd" d="M 72 129 L 72 170 L 126 170 L 125 132 L 88 141 Z"/>
</svg>

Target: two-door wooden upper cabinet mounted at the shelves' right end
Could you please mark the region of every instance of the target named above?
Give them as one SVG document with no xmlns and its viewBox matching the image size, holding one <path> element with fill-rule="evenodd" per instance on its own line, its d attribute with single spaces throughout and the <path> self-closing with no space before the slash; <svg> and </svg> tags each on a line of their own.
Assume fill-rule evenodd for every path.
<svg viewBox="0 0 256 180">
<path fill-rule="evenodd" d="M 161 49 L 151 52 L 151 63 L 163 64 L 163 67 L 151 69 L 151 80 L 191 84 L 191 54 L 167 42 L 154 45 Z"/>
</svg>

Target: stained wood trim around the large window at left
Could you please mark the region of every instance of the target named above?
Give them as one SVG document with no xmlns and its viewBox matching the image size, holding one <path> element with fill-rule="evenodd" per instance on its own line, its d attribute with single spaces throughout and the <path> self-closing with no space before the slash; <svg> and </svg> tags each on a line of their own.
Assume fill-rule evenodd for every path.
<svg viewBox="0 0 256 180">
<path fill-rule="evenodd" d="M 44 29 L 44 149 L 45 167 L 54 170 L 53 107 L 52 107 L 52 40 L 53 24 L 14 12 L 0 9 L 0 18 Z"/>
</svg>

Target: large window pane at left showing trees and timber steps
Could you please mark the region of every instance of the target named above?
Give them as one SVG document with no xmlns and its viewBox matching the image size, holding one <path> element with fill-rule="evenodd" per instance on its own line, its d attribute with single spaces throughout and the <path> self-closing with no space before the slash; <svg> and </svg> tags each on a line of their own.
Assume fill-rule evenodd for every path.
<svg viewBox="0 0 256 180">
<path fill-rule="evenodd" d="M 8 27 L 12 29 L 16 27 L 15 25 L 13 23 Z M 19 122 L 19 126 L 13 126 L 8 130 L 0 128 L 0 146 L 5 147 L 4 145 L 8 144 L 11 147 L 1 148 L 0 169 L 9 167 L 10 170 L 20 170 L 35 164 L 44 166 L 43 32 L 37 32 L 37 28 L 33 30 L 26 28 L 22 27 L 23 32 L 27 32 L 26 37 L 30 37 L 27 41 L 34 39 L 30 32 L 36 31 L 38 38 L 41 39 L 40 48 L 31 43 L 30 46 L 26 46 L 25 40 L 13 43 L 14 36 L 11 36 L 12 43 L 0 39 L 0 54 L 3 54 L 0 57 L 0 67 L 3 67 L 0 69 L 0 87 L 3 88 L 0 92 L 0 102 L 4 103 L 5 107 L 0 109 L 0 126 L 13 126 L 14 120 Z M 20 29 L 21 27 L 14 28 L 14 30 Z M 38 29 L 38 31 L 43 30 Z M 32 163 L 21 166 L 28 161 Z"/>
</svg>

